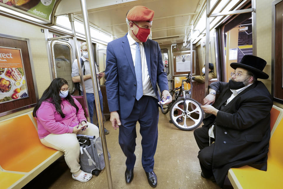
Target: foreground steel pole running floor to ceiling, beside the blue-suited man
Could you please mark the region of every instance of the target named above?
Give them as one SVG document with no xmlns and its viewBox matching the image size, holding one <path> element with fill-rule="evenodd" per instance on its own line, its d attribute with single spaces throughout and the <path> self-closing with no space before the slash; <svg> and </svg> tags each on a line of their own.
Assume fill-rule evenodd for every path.
<svg viewBox="0 0 283 189">
<path fill-rule="evenodd" d="M 91 67 L 91 80 L 93 84 L 93 92 L 94 92 L 96 112 L 97 112 L 97 117 L 98 117 L 99 132 L 101 136 L 102 149 L 103 149 L 103 154 L 104 154 L 107 183 L 108 183 L 108 188 L 112 189 L 113 184 L 112 184 L 110 164 L 109 164 L 108 153 L 107 153 L 107 145 L 106 145 L 106 138 L 105 138 L 105 133 L 104 133 L 103 118 L 102 118 L 102 113 L 100 109 L 98 82 L 96 78 L 96 71 L 94 68 L 95 66 L 93 66 L 94 65 L 93 49 L 92 49 L 91 35 L 90 35 L 89 22 L 88 22 L 88 10 L 86 7 L 85 0 L 80 0 L 80 6 L 82 9 L 83 25 L 85 29 L 85 39 L 86 39 L 86 44 L 88 47 L 88 58 L 90 60 L 89 62 L 90 62 L 90 67 Z"/>
</svg>

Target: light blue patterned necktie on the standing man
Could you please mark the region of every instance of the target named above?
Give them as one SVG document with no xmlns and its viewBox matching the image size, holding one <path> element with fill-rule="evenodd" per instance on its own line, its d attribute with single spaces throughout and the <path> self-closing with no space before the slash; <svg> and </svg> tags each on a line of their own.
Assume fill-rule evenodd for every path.
<svg viewBox="0 0 283 189">
<path fill-rule="evenodd" d="M 139 49 L 139 43 L 136 42 L 136 61 L 135 61 L 135 72 L 136 72 L 136 100 L 139 100 L 143 93 L 142 90 L 142 74 L 141 74 L 141 50 Z"/>
</svg>

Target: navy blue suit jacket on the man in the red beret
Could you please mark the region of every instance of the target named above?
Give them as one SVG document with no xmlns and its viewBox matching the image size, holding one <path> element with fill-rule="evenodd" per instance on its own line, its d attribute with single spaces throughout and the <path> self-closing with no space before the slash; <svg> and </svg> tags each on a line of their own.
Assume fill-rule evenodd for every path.
<svg viewBox="0 0 283 189">
<path fill-rule="evenodd" d="M 161 50 L 156 41 L 148 39 L 144 44 L 147 68 L 154 93 L 160 101 L 160 91 L 168 90 Z M 110 112 L 118 111 L 122 119 L 129 117 L 136 97 L 136 74 L 127 34 L 107 45 L 106 93 Z"/>
</svg>

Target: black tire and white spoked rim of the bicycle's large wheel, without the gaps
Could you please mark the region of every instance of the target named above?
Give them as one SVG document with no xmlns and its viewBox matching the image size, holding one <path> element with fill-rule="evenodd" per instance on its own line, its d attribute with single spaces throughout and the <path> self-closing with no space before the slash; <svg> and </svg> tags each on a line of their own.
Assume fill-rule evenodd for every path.
<svg viewBox="0 0 283 189">
<path fill-rule="evenodd" d="M 187 115 L 186 117 L 184 116 L 185 114 L 181 114 L 181 115 L 175 116 L 175 115 L 174 115 L 174 111 L 175 111 L 175 109 L 177 109 L 177 107 L 178 107 L 178 105 L 179 105 L 180 103 L 184 103 L 184 98 L 181 98 L 181 99 L 179 99 L 179 100 L 176 100 L 176 101 L 171 105 L 171 108 L 170 108 L 170 118 L 171 118 L 173 124 L 174 124 L 178 129 L 181 129 L 181 130 L 183 130 L 183 131 L 191 131 L 191 130 L 193 130 L 193 129 L 195 129 L 195 128 L 198 128 L 198 126 L 200 126 L 200 124 L 202 123 L 202 120 L 203 120 L 203 117 L 204 117 L 204 112 L 203 112 L 203 109 L 200 107 L 200 106 L 201 106 L 200 103 L 198 103 L 198 102 L 197 102 L 196 100 L 194 100 L 194 99 L 186 98 L 187 111 L 188 111 L 188 107 L 192 107 L 191 105 L 188 106 L 188 104 L 189 104 L 189 103 L 190 103 L 190 104 L 193 104 L 193 105 L 195 106 L 195 108 L 192 108 L 191 113 L 195 113 L 196 116 L 198 116 L 198 119 L 192 118 L 192 117 L 190 116 L 191 113 L 190 113 L 189 115 Z M 178 108 L 180 108 L 180 107 L 178 107 Z M 183 109 L 184 109 L 184 108 L 183 108 Z M 183 112 L 184 112 L 184 110 L 183 110 Z M 184 121 L 181 122 L 181 123 L 184 123 L 184 125 L 181 125 L 181 124 L 179 124 L 179 123 L 176 121 L 176 119 L 177 119 L 178 117 L 184 118 Z M 190 118 L 192 121 L 195 122 L 195 124 L 192 124 L 191 126 L 187 126 L 187 122 L 186 122 L 187 118 Z"/>
</svg>

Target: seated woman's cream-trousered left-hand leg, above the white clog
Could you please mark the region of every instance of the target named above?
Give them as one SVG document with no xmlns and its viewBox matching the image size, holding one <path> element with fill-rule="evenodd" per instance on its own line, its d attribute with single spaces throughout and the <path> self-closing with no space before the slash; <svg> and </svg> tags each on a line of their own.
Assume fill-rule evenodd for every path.
<svg viewBox="0 0 283 189">
<path fill-rule="evenodd" d="M 49 134 L 40 139 L 47 147 L 64 152 L 65 161 L 71 172 L 76 175 L 80 173 L 80 144 L 75 133 Z"/>
</svg>

